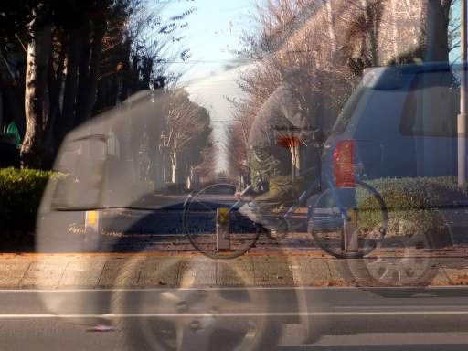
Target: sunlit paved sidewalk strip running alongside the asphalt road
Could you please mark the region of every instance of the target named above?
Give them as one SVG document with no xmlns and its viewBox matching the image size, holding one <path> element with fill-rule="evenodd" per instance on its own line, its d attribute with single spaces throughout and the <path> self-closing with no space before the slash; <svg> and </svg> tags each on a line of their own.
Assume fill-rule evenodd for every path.
<svg viewBox="0 0 468 351">
<path fill-rule="evenodd" d="M 310 255 L 2 254 L 0 289 L 110 289 L 215 286 L 353 286 L 346 261 Z M 468 284 L 464 258 L 439 259 L 432 285 Z M 361 282 L 362 284 L 362 282 Z"/>
</svg>

